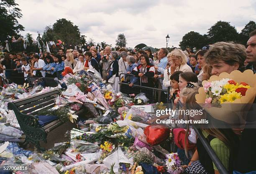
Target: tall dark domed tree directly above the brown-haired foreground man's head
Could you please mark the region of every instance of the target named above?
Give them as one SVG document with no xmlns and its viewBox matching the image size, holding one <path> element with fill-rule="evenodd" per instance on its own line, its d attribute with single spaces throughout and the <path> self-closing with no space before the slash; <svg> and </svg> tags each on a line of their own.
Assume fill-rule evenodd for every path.
<svg viewBox="0 0 256 174">
<path fill-rule="evenodd" d="M 218 41 L 238 41 L 238 32 L 229 22 L 218 21 L 207 33 L 211 44 Z"/>
</svg>

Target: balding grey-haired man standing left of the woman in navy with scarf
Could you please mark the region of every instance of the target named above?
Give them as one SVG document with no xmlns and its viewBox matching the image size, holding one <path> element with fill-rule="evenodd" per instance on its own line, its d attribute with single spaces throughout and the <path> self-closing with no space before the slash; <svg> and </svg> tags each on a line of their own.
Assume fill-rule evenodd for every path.
<svg viewBox="0 0 256 174">
<path fill-rule="evenodd" d="M 110 65 L 112 63 L 111 47 L 106 46 L 104 53 L 105 54 L 101 56 L 100 67 L 102 68 L 102 79 L 107 80 L 107 77 L 108 77 L 107 72 L 109 71 Z"/>
</svg>

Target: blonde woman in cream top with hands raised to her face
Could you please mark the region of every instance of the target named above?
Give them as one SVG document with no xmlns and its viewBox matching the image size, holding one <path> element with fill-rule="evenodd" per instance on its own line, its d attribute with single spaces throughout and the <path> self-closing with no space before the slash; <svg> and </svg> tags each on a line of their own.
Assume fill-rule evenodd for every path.
<svg viewBox="0 0 256 174">
<path fill-rule="evenodd" d="M 176 71 L 192 72 L 191 67 L 187 65 L 187 56 L 180 49 L 176 49 L 167 55 L 168 63 L 171 67 L 164 70 L 164 87 L 171 86 L 171 75 Z"/>
</svg>

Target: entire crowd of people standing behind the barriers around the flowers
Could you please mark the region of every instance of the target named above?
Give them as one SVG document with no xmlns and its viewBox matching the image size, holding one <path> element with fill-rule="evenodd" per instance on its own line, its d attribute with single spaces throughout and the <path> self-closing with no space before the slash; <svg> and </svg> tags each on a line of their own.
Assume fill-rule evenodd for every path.
<svg viewBox="0 0 256 174">
<path fill-rule="evenodd" d="M 85 52 L 69 49 L 66 54 L 63 49 L 60 49 L 58 54 L 27 54 L 26 51 L 17 54 L 6 53 L 0 64 L 7 79 L 23 77 L 24 81 L 33 76 L 61 79 L 61 72 L 65 67 L 70 67 L 74 74 L 94 69 L 102 79 L 112 85 L 115 92 L 120 90 L 120 81 L 128 83 L 133 93 L 136 92 L 134 85 L 170 89 L 168 100 L 174 103 L 174 107 L 180 105 L 186 109 L 195 109 L 200 107 L 196 103 L 195 95 L 202 86 L 202 81 L 212 75 L 219 76 L 222 72 L 230 74 L 234 70 L 243 72 L 245 69 L 256 72 L 256 30 L 251 32 L 247 47 L 233 42 L 217 42 L 195 53 L 189 49 L 174 49 L 169 52 L 166 48 L 152 53 L 151 49 L 127 51 L 125 48 L 118 48 L 112 51 L 110 46 L 97 51 L 92 46 Z M 147 90 L 145 92 L 151 95 Z M 160 119 L 167 117 L 164 115 Z M 205 113 L 205 118 L 210 117 Z M 179 115 L 177 119 L 183 117 Z M 156 120 L 150 121 L 154 123 Z M 179 149 L 186 154 L 184 161 L 187 160 L 187 166 L 194 165 L 195 169 L 205 169 L 208 173 L 220 173 L 202 142 L 196 138 L 195 131 L 188 125 L 179 126 L 187 128 L 190 132 L 188 143 L 195 145 L 187 146 L 185 143 L 184 149 Z M 245 128 L 237 132 L 232 129 L 207 128 L 202 129 L 202 133 L 230 173 L 235 170 L 256 170 L 256 153 L 253 147 L 256 143 L 256 138 L 253 138 L 255 129 Z"/>
</svg>

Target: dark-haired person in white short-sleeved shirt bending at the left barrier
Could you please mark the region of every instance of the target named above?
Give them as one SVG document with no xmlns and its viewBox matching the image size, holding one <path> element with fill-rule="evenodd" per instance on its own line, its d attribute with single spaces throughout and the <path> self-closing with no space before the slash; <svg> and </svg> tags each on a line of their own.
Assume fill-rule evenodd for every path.
<svg viewBox="0 0 256 174">
<path fill-rule="evenodd" d="M 45 77 L 45 71 L 43 70 L 43 67 L 45 66 L 45 63 L 42 59 L 39 58 L 37 54 L 34 54 L 32 62 L 32 70 L 33 75 L 36 77 Z"/>
</svg>

